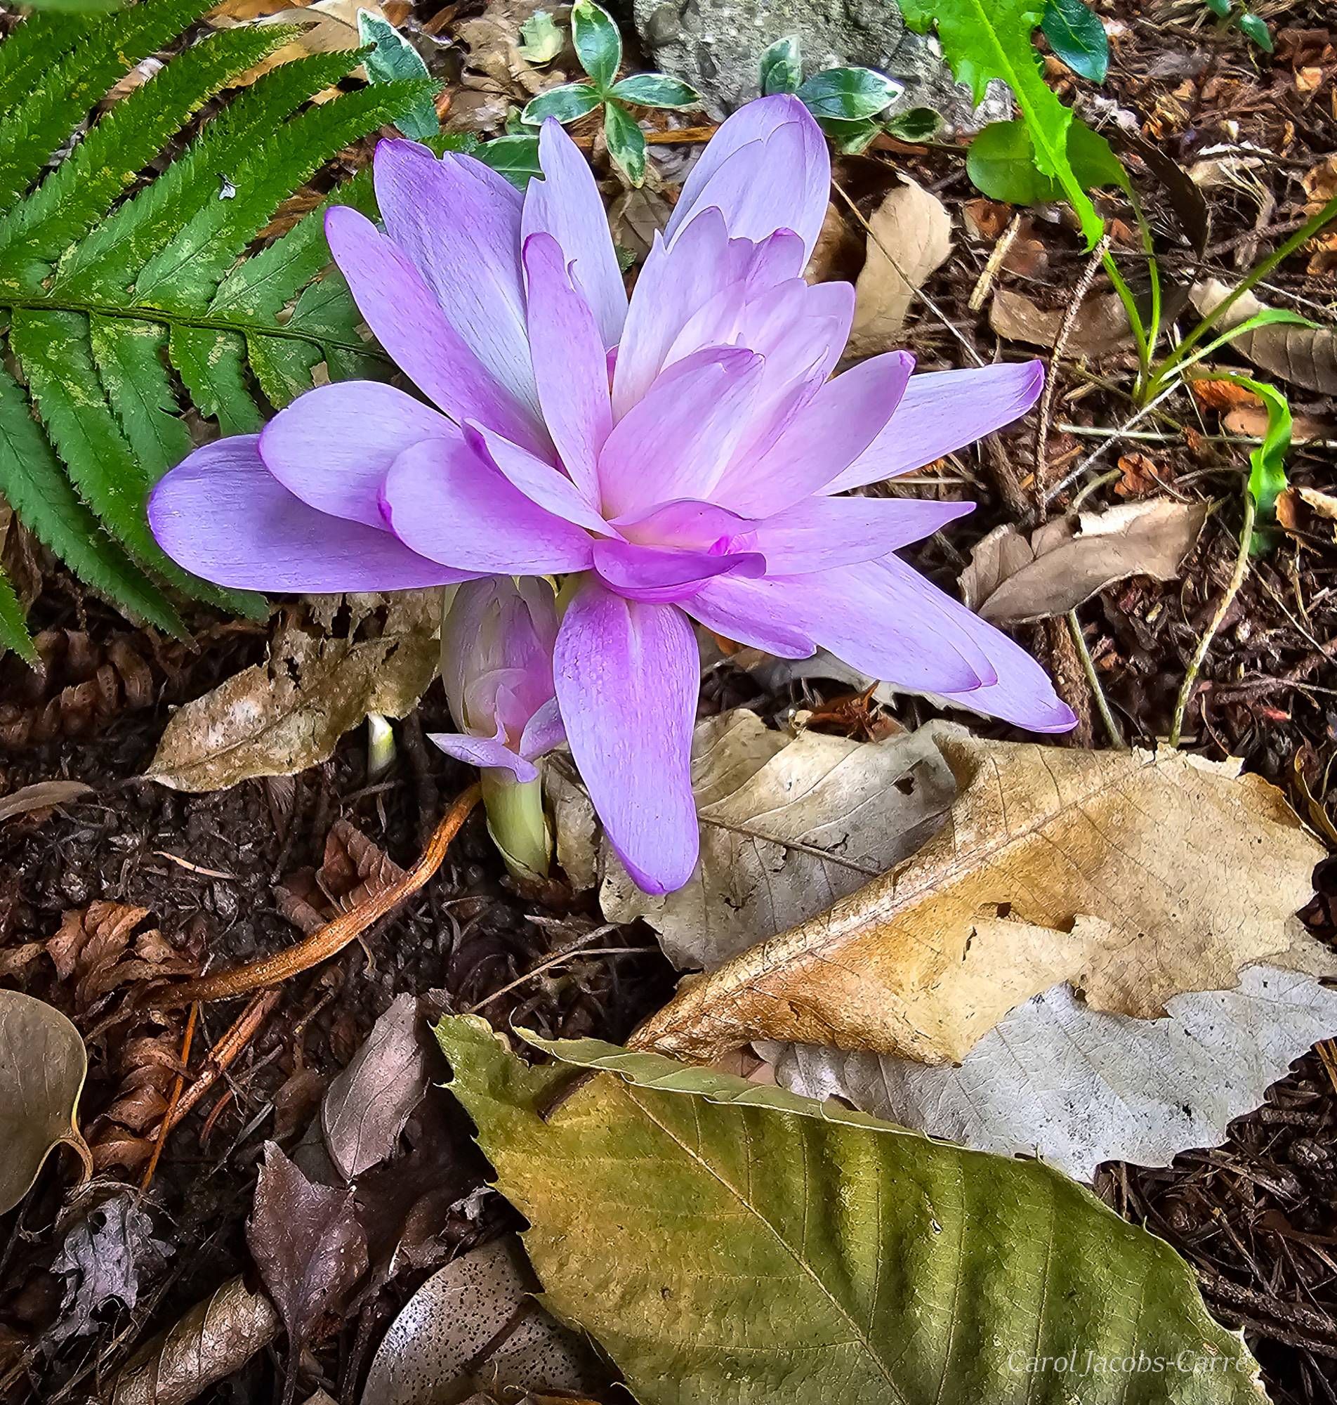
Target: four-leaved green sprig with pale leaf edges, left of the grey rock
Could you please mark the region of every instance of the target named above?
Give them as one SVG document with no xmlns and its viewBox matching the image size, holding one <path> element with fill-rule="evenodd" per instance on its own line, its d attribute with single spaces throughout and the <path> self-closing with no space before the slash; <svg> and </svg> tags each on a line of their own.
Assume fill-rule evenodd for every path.
<svg viewBox="0 0 1337 1405">
<path fill-rule="evenodd" d="M 694 87 L 667 73 L 632 73 L 619 80 L 622 35 L 612 15 L 593 0 L 576 0 L 572 6 L 572 44 L 586 81 L 539 93 L 525 104 L 520 121 L 538 126 L 555 117 L 565 125 L 602 108 L 608 155 L 639 185 L 645 180 L 646 142 L 629 108 L 699 107 L 701 98 Z"/>
</svg>

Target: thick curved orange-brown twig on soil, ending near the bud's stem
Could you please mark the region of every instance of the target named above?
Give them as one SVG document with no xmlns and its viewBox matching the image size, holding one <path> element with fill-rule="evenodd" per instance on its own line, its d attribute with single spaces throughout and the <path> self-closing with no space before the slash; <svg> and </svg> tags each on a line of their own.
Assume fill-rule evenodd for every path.
<svg viewBox="0 0 1337 1405">
<path fill-rule="evenodd" d="M 205 1000 L 226 1000 L 237 995 L 250 995 L 251 991 L 278 985 L 281 981 L 301 975 L 302 971 L 309 971 L 313 965 L 337 955 L 350 941 L 367 932 L 374 922 L 379 922 L 431 880 L 441 867 L 445 853 L 451 847 L 451 840 L 459 833 L 459 828 L 479 802 L 479 787 L 475 784 L 458 797 L 445 812 L 441 823 L 437 825 L 423 857 L 406 874 L 365 902 L 340 913 L 333 922 L 327 922 L 317 932 L 313 932 L 305 941 L 232 971 L 219 971 L 215 975 L 201 976 L 198 981 L 187 981 L 184 985 L 150 991 L 145 996 L 145 1003 L 166 1009 L 185 1005 L 190 1000 L 204 1003 Z"/>
</svg>

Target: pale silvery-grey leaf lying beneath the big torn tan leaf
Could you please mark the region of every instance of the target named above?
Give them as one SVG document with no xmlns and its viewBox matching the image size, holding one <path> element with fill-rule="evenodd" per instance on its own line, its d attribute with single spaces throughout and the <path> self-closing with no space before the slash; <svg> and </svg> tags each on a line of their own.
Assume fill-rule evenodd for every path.
<svg viewBox="0 0 1337 1405">
<path fill-rule="evenodd" d="M 1334 1034 L 1337 991 L 1257 965 L 1236 991 L 1174 996 L 1160 1020 L 1102 1014 L 1058 985 L 1011 1010 L 959 1068 L 812 1044 L 758 1052 L 806 1097 L 838 1094 L 903 1127 L 1090 1180 L 1102 1161 L 1167 1166 L 1190 1146 L 1215 1146 L 1292 1059 Z"/>
</svg>

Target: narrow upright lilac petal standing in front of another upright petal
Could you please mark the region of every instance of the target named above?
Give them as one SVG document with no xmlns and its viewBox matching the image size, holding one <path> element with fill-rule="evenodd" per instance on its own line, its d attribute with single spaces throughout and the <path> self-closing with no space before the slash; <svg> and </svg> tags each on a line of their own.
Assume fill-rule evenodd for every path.
<svg viewBox="0 0 1337 1405">
<path fill-rule="evenodd" d="M 569 140 L 565 133 L 563 140 Z M 529 347 L 544 419 L 567 473 L 594 507 L 598 504 L 595 465 L 612 429 L 608 353 L 590 305 L 570 284 L 556 239 L 529 235 L 524 261 L 529 280 Z"/>
</svg>

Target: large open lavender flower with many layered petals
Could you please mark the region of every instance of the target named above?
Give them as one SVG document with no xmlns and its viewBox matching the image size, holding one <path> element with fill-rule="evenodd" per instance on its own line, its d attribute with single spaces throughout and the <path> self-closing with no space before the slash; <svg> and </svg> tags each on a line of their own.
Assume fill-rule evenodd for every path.
<svg viewBox="0 0 1337 1405">
<path fill-rule="evenodd" d="M 830 183 L 822 132 L 761 98 L 692 169 L 628 303 L 593 173 L 555 122 L 521 197 L 468 156 L 375 157 L 385 233 L 326 232 L 362 316 L 435 405 L 375 382 L 301 396 L 192 454 L 150 503 L 181 565 L 263 590 L 580 573 L 555 690 L 608 837 L 652 892 L 698 830 L 692 621 L 1036 732 L 1073 725 L 1041 667 L 895 552 L 968 503 L 848 497 L 1017 419 L 1039 362 L 831 378 L 854 289 L 802 271 Z"/>
</svg>

